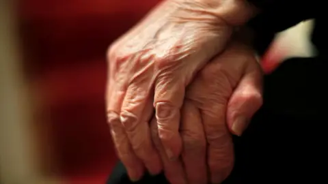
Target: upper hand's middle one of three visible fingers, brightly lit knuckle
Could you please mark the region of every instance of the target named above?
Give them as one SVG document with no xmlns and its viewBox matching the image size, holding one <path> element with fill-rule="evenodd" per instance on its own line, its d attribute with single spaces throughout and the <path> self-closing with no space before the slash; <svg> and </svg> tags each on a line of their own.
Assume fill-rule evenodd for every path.
<svg viewBox="0 0 328 184">
<path fill-rule="evenodd" d="M 129 85 L 120 116 L 135 154 L 150 174 L 159 174 L 162 169 L 161 159 L 152 144 L 148 125 L 154 112 L 149 85 L 149 80 L 139 80 Z"/>
</svg>

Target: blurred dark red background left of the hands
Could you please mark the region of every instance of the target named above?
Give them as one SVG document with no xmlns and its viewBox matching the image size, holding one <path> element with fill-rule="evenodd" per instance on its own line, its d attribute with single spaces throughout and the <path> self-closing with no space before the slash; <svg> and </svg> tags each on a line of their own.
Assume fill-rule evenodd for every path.
<svg viewBox="0 0 328 184">
<path fill-rule="evenodd" d="M 104 183 L 116 162 L 105 121 L 107 47 L 158 1 L 21 0 L 19 31 L 38 110 L 42 166 Z"/>
</svg>

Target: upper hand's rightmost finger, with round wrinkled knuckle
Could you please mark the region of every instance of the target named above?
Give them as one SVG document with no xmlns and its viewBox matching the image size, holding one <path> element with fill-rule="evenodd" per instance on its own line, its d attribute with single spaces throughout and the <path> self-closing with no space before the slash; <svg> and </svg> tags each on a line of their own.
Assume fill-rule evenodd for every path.
<svg viewBox="0 0 328 184">
<path fill-rule="evenodd" d="M 169 159 L 177 159 L 182 150 L 178 129 L 184 88 L 185 85 L 180 80 L 169 76 L 159 78 L 155 85 L 154 107 L 159 138 Z"/>
</svg>

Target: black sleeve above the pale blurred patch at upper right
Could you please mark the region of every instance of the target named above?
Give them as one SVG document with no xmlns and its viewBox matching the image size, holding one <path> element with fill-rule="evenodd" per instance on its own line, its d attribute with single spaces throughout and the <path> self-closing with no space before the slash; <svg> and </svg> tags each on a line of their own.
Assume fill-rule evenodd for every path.
<svg viewBox="0 0 328 184">
<path fill-rule="evenodd" d="M 323 0 L 248 0 L 260 9 L 249 22 L 255 33 L 255 48 L 264 53 L 275 33 L 297 25 L 303 20 L 323 14 Z"/>
</svg>

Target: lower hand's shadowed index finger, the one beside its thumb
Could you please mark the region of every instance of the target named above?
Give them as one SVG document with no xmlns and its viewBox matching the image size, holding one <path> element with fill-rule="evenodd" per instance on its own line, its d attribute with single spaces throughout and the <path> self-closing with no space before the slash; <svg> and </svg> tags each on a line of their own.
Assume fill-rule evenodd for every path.
<svg viewBox="0 0 328 184">
<path fill-rule="evenodd" d="M 187 89 L 186 97 L 195 102 L 202 116 L 210 183 L 221 183 L 234 166 L 232 137 L 226 124 L 226 108 L 233 80 L 222 71 L 231 71 L 222 63 L 230 58 L 231 55 L 223 53 L 223 56 L 213 59 Z"/>
</svg>

